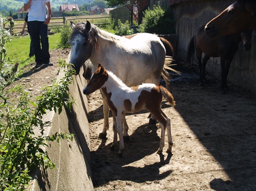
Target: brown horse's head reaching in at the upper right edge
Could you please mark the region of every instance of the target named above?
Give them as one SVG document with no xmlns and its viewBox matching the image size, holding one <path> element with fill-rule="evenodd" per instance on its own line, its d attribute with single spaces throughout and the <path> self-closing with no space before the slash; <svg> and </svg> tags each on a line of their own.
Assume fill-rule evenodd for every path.
<svg viewBox="0 0 256 191">
<path fill-rule="evenodd" d="M 256 1 L 238 0 L 205 26 L 209 38 L 241 33 L 246 29 L 256 31 Z"/>
</svg>

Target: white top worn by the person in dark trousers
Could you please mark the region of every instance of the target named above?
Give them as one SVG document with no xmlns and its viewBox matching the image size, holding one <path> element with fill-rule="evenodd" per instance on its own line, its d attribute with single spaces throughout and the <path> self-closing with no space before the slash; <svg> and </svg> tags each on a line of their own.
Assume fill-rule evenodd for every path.
<svg viewBox="0 0 256 191">
<path fill-rule="evenodd" d="M 28 21 L 46 21 L 46 3 L 51 0 L 32 0 L 29 8 Z M 24 0 L 24 4 L 27 4 L 29 0 Z"/>
</svg>

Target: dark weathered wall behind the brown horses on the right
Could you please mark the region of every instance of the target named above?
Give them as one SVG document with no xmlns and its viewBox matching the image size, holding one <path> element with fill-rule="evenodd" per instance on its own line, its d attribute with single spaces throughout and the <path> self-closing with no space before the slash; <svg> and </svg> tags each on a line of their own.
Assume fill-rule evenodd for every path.
<svg viewBox="0 0 256 191">
<path fill-rule="evenodd" d="M 187 1 L 174 4 L 177 34 L 177 55 L 185 60 L 190 39 L 199 26 L 205 25 L 212 18 L 220 14 L 234 0 L 224 1 Z M 230 65 L 228 81 L 240 88 L 245 88 L 256 95 L 256 33 L 252 33 L 251 50 L 244 51 L 242 42 Z M 195 62 L 197 62 L 195 60 Z M 211 58 L 206 65 L 206 71 L 220 77 L 220 58 Z"/>
</svg>

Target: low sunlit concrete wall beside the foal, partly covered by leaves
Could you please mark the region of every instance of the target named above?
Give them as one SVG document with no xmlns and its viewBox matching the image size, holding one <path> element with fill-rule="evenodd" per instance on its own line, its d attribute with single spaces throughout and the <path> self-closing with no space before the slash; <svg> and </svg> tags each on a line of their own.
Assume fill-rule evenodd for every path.
<svg viewBox="0 0 256 191">
<path fill-rule="evenodd" d="M 37 170 L 28 190 L 94 190 L 90 167 L 88 101 L 81 92 L 86 80 L 81 74 L 82 68 L 80 74 L 74 76 L 74 84 L 70 85 L 71 96 L 76 100 L 72 110 L 62 108 L 59 115 L 49 112 L 44 116 L 44 121 L 51 124 L 45 128 L 45 135 L 73 133 L 74 140 L 61 140 L 59 144 L 54 142 L 51 147 L 45 148 L 56 168 Z M 60 71 L 58 79 L 62 76 L 63 71 Z"/>
</svg>

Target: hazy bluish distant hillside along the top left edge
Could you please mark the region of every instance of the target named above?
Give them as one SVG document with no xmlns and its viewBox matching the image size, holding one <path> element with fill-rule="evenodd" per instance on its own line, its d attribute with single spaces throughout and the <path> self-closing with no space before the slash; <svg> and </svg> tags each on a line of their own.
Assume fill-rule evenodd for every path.
<svg viewBox="0 0 256 191">
<path fill-rule="evenodd" d="M 0 12 L 2 10 L 13 10 L 14 12 L 17 12 L 20 8 L 23 7 L 23 0 L 0 0 Z M 60 5 L 63 4 L 77 4 L 77 5 L 83 5 L 83 4 L 91 4 L 93 3 L 93 0 L 51 0 L 51 6 L 52 8 L 59 9 Z"/>
</svg>

